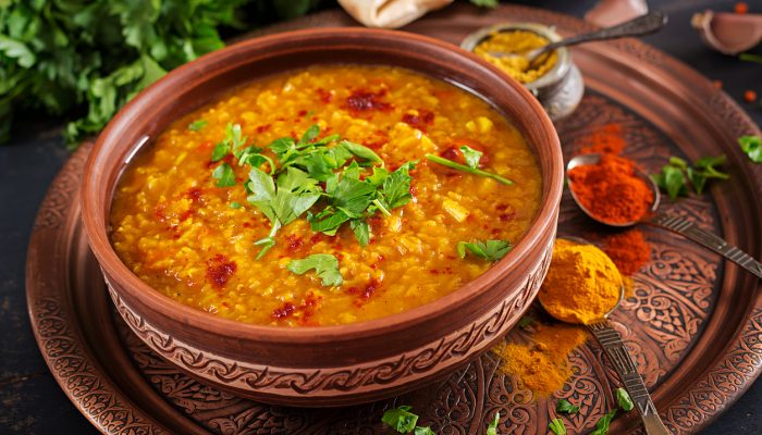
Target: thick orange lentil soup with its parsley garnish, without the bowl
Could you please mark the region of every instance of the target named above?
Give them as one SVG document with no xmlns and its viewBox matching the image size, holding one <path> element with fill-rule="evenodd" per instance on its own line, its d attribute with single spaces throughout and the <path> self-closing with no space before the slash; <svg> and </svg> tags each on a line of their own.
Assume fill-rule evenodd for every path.
<svg viewBox="0 0 762 435">
<path fill-rule="evenodd" d="M 521 134 L 478 97 L 398 67 L 314 66 L 171 124 L 122 175 L 111 240 L 190 307 L 345 324 L 482 274 L 524 236 L 541 191 Z"/>
</svg>

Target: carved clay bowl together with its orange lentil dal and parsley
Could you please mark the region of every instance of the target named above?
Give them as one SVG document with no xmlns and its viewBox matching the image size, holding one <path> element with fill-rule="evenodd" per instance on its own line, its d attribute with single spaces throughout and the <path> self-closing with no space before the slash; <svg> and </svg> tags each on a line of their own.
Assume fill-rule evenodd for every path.
<svg viewBox="0 0 762 435">
<path fill-rule="evenodd" d="M 488 350 L 546 272 L 557 135 L 518 83 L 392 30 L 236 44 L 99 136 L 85 231 L 116 310 L 219 388 L 342 406 Z"/>
</svg>

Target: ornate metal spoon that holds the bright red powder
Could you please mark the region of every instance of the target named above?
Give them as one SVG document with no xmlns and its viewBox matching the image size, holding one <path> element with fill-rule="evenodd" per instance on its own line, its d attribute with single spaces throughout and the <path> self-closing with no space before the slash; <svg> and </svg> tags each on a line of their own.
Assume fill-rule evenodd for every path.
<svg viewBox="0 0 762 435">
<path fill-rule="evenodd" d="M 569 163 L 566 165 L 566 173 L 572 171 L 574 167 L 577 166 L 582 166 L 582 165 L 588 165 L 588 164 L 595 164 L 601 160 L 600 154 L 581 154 L 577 156 L 574 159 L 569 161 Z M 696 241 L 699 245 L 702 245 L 714 252 L 717 252 L 718 254 L 725 257 L 726 259 L 733 261 L 734 263 L 740 265 L 741 268 L 746 269 L 747 271 L 751 272 L 754 274 L 758 278 L 762 278 L 762 264 L 760 264 L 759 261 L 754 260 L 751 256 L 748 253 L 743 252 L 742 250 L 738 249 L 737 247 L 728 244 L 727 241 L 723 240 L 722 238 L 715 236 L 712 233 L 709 233 L 706 231 L 703 231 L 696 226 L 692 222 L 681 217 L 681 216 L 675 216 L 675 215 L 669 215 L 668 213 L 663 213 L 659 211 L 659 201 L 661 198 L 661 195 L 659 192 L 659 186 L 651 179 L 648 174 L 643 173 L 640 171 L 638 167 L 635 170 L 635 174 L 642 178 L 646 184 L 651 188 L 651 191 L 653 192 L 653 204 L 651 206 L 651 209 L 649 210 L 649 213 L 647 213 L 646 216 L 643 216 L 640 221 L 632 221 L 632 222 L 625 222 L 625 223 L 615 223 L 615 222 L 605 222 L 597 217 L 594 214 L 592 214 L 588 209 L 582 206 L 582 203 L 579 201 L 579 198 L 577 198 L 577 195 L 574 192 L 574 189 L 570 188 L 572 190 L 572 198 L 574 198 L 574 201 L 579 206 L 580 209 L 590 216 L 593 221 L 600 222 L 604 225 L 610 225 L 610 226 L 619 226 L 619 227 L 627 227 L 627 226 L 632 226 L 638 223 L 643 223 L 652 226 L 657 226 L 661 228 L 668 229 L 673 233 L 677 233 L 690 240 Z M 572 187 L 572 181 L 569 181 L 569 187 Z"/>
</svg>

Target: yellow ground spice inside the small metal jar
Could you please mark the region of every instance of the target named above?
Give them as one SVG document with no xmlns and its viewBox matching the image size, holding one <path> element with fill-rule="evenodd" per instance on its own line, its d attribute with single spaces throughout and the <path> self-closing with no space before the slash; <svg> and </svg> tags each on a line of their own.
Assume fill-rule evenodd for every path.
<svg viewBox="0 0 762 435">
<path fill-rule="evenodd" d="M 526 58 L 499 58 L 490 53 L 525 53 L 549 42 L 542 36 L 528 30 L 493 32 L 489 38 L 476 46 L 474 52 L 518 82 L 531 83 L 542 77 L 555 65 L 558 59 L 555 51 L 552 51 L 544 60 L 541 59 L 541 62 L 532 67 Z"/>
</svg>

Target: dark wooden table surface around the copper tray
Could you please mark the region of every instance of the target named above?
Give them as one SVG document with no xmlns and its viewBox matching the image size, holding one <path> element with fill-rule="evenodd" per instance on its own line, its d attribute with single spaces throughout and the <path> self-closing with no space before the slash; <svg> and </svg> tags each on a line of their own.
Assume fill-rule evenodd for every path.
<svg viewBox="0 0 762 435">
<path fill-rule="evenodd" d="M 581 16 L 594 0 L 520 1 Z M 762 66 L 706 50 L 690 29 L 690 16 L 703 9 L 732 10 L 735 1 L 665 0 L 669 24 L 649 44 L 692 65 L 712 79 L 762 124 L 762 107 L 741 101 L 746 89 L 762 94 Z M 762 12 L 762 0 L 748 1 Z M 761 52 L 760 48 L 757 52 Z M 60 139 L 62 120 L 19 120 L 12 142 L 0 148 L 0 434 L 87 434 L 96 431 L 69 402 L 39 355 L 29 328 L 24 291 L 26 245 L 34 216 L 49 183 L 67 158 Z M 762 383 L 752 388 L 706 434 L 762 432 Z"/>
</svg>

